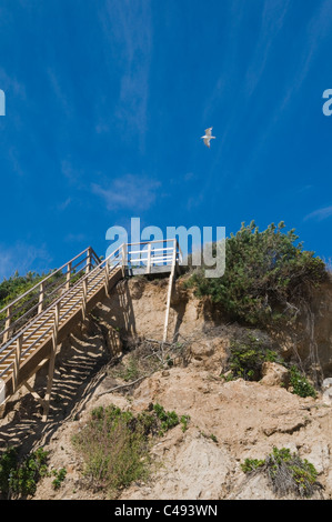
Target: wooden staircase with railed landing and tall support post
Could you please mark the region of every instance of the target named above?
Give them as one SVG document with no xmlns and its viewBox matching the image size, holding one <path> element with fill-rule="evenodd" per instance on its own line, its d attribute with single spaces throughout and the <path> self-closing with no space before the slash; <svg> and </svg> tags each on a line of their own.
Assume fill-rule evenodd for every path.
<svg viewBox="0 0 332 522">
<path fill-rule="evenodd" d="M 120 279 L 132 274 L 133 262 L 140 269 L 138 273 L 152 273 L 154 267 L 159 272 L 171 272 L 167 335 L 171 289 L 181 251 L 175 240 L 171 248 L 157 249 L 151 243 L 124 243 L 103 261 L 89 247 L 0 310 L 0 405 L 24 385 L 41 403 L 43 420 L 47 419 L 58 344 Z M 28 381 L 47 362 L 48 384 L 41 398 Z"/>
</svg>

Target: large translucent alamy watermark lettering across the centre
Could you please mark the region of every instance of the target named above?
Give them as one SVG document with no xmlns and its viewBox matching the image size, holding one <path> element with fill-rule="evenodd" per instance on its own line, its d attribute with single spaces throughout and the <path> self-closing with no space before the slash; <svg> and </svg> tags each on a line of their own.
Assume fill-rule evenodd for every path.
<svg viewBox="0 0 332 522">
<path fill-rule="evenodd" d="M 129 240 L 130 238 L 130 240 Z M 207 278 L 221 278 L 225 269 L 225 227 L 199 227 L 189 229 L 180 227 L 167 227 L 163 234 L 159 227 L 149 225 L 141 230 L 140 218 L 131 218 L 130 233 L 124 227 L 110 227 L 105 233 L 107 241 L 111 241 L 105 257 L 119 249 L 122 243 L 148 243 L 155 251 L 165 244 L 165 240 L 178 240 L 182 252 L 182 265 L 203 267 Z"/>
</svg>

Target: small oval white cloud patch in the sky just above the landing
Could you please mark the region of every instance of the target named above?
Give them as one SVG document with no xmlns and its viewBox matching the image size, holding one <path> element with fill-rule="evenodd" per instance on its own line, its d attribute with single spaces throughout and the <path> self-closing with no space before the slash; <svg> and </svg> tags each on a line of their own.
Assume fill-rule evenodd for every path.
<svg viewBox="0 0 332 522">
<path fill-rule="evenodd" d="M 91 190 L 105 202 L 108 210 L 148 210 L 154 203 L 161 183 L 150 178 L 127 174 L 107 188 L 92 183 Z"/>
</svg>

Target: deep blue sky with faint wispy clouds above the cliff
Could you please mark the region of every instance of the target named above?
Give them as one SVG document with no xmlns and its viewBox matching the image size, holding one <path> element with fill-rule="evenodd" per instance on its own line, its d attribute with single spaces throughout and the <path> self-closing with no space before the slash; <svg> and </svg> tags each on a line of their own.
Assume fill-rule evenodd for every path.
<svg viewBox="0 0 332 522">
<path fill-rule="evenodd" d="M 328 260 L 331 49 L 332 0 L 0 0 L 0 280 L 137 217 Z"/>
</svg>

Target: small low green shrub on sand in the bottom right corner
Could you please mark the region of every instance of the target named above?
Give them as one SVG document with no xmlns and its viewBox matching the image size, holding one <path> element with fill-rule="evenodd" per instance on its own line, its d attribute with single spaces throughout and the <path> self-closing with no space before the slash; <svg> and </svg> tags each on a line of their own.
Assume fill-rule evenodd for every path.
<svg viewBox="0 0 332 522">
<path fill-rule="evenodd" d="M 265 460 L 245 459 L 241 468 L 248 474 L 263 473 L 274 493 L 280 496 L 294 494 L 310 498 L 322 489 L 322 484 L 316 481 L 314 465 L 286 448 L 279 450 L 274 446 Z"/>
</svg>

